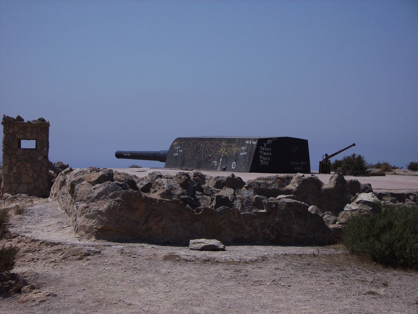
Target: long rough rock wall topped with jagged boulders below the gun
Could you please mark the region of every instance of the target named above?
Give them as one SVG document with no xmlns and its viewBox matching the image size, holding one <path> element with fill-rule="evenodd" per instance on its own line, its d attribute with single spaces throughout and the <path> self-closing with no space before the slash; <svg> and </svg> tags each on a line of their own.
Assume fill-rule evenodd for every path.
<svg viewBox="0 0 418 314">
<path fill-rule="evenodd" d="M 225 244 L 324 245 L 339 234 L 338 223 L 372 213 L 382 199 L 418 200 L 409 192 L 361 193 L 357 180 L 346 181 L 340 174 L 328 184 L 296 174 L 257 178 L 242 187 L 237 178 L 153 172 L 139 179 L 108 169 L 67 168 L 58 175 L 51 198 L 79 236 L 184 245 L 201 238 Z"/>
</svg>

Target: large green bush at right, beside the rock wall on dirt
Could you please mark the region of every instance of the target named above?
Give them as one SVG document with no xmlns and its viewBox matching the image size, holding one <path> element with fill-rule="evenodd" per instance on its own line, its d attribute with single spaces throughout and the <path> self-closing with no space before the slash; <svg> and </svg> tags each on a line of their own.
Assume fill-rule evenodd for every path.
<svg viewBox="0 0 418 314">
<path fill-rule="evenodd" d="M 352 253 L 375 262 L 418 269 L 418 207 L 380 205 L 377 214 L 354 216 L 342 241 Z"/>
</svg>

